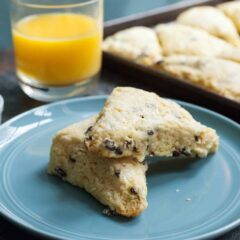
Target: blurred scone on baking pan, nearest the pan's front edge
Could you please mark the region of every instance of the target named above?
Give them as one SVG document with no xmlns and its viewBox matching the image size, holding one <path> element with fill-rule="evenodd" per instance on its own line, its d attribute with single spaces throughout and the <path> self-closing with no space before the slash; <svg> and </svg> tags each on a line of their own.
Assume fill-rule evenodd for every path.
<svg viewBox="0 0 240 240">
<path fill-rule="evenodd" d="M 169 56 L 156 65 L 175 77 L 240 102 L 240 64 L 201 56 Z"/>
</svg>

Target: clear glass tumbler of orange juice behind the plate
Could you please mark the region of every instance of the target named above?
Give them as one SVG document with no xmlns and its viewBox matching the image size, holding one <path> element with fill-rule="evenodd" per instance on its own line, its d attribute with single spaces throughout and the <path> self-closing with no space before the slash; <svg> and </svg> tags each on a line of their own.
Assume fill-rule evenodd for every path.
<svg viewBox="0 0 240 240">
<path fill-rule="evenodd" d="M 16 73 L 40 101 L 86 94 L 101 68 L 103 0 L 11 0 Z"/>
</svg>

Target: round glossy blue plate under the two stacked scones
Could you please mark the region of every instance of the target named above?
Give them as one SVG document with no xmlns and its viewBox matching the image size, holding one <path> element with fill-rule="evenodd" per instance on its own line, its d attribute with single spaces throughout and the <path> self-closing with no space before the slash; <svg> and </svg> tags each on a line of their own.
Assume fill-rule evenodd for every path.
<svg viewBox="0 0 240 240">
<path fill-rule="evenodd" d="M 206 109 L 179 102 L 220 135 L 206 159 L 152 159 L 148 208 L 137 218 L 109 218 L 85 191 L 48 176 L 53 135 L 99 112 L 106 97 L 45 105 L 0 127 L 0 211 L 58 239 L 206 239 L 240 224 L 240 129 Z"/>
</svg>

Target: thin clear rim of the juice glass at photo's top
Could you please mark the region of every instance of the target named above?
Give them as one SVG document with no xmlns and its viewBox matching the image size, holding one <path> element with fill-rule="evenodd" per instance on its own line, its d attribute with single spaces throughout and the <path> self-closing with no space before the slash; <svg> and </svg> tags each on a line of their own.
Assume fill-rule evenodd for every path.
<svg viewBox="0 0 240 240">
<path fill-rule="evenodd" d="M 62 8 L 74 8 L 74 7 L 82 7 L 91 5 L 96 2 L 101 2 L 102 0 L 86 0 L 85 2 L 81 3 L 62 3 L 62 4 L 35 4 L 35 3 L 28 3 L 26 2 L 20 2 L 19 0 L 11 0 L 11 3 L 18 4 L 21 6 L 29 7 L 29 8 L 41 8 L 41 9 L 62 9 Z"/>
</svg>

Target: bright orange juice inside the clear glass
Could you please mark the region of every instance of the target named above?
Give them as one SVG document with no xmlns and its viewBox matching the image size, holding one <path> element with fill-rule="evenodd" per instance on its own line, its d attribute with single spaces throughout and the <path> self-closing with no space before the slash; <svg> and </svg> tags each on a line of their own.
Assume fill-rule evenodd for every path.
<svg viewBox="0 0 240 240">
<path fill-rule="evenodd" d="M 23 18 L 13 30 L 17 72 L 49 86 L 84 81 L 100 69 L 101 39 L 101 27 L 85 15 Z"/>
</svg>

